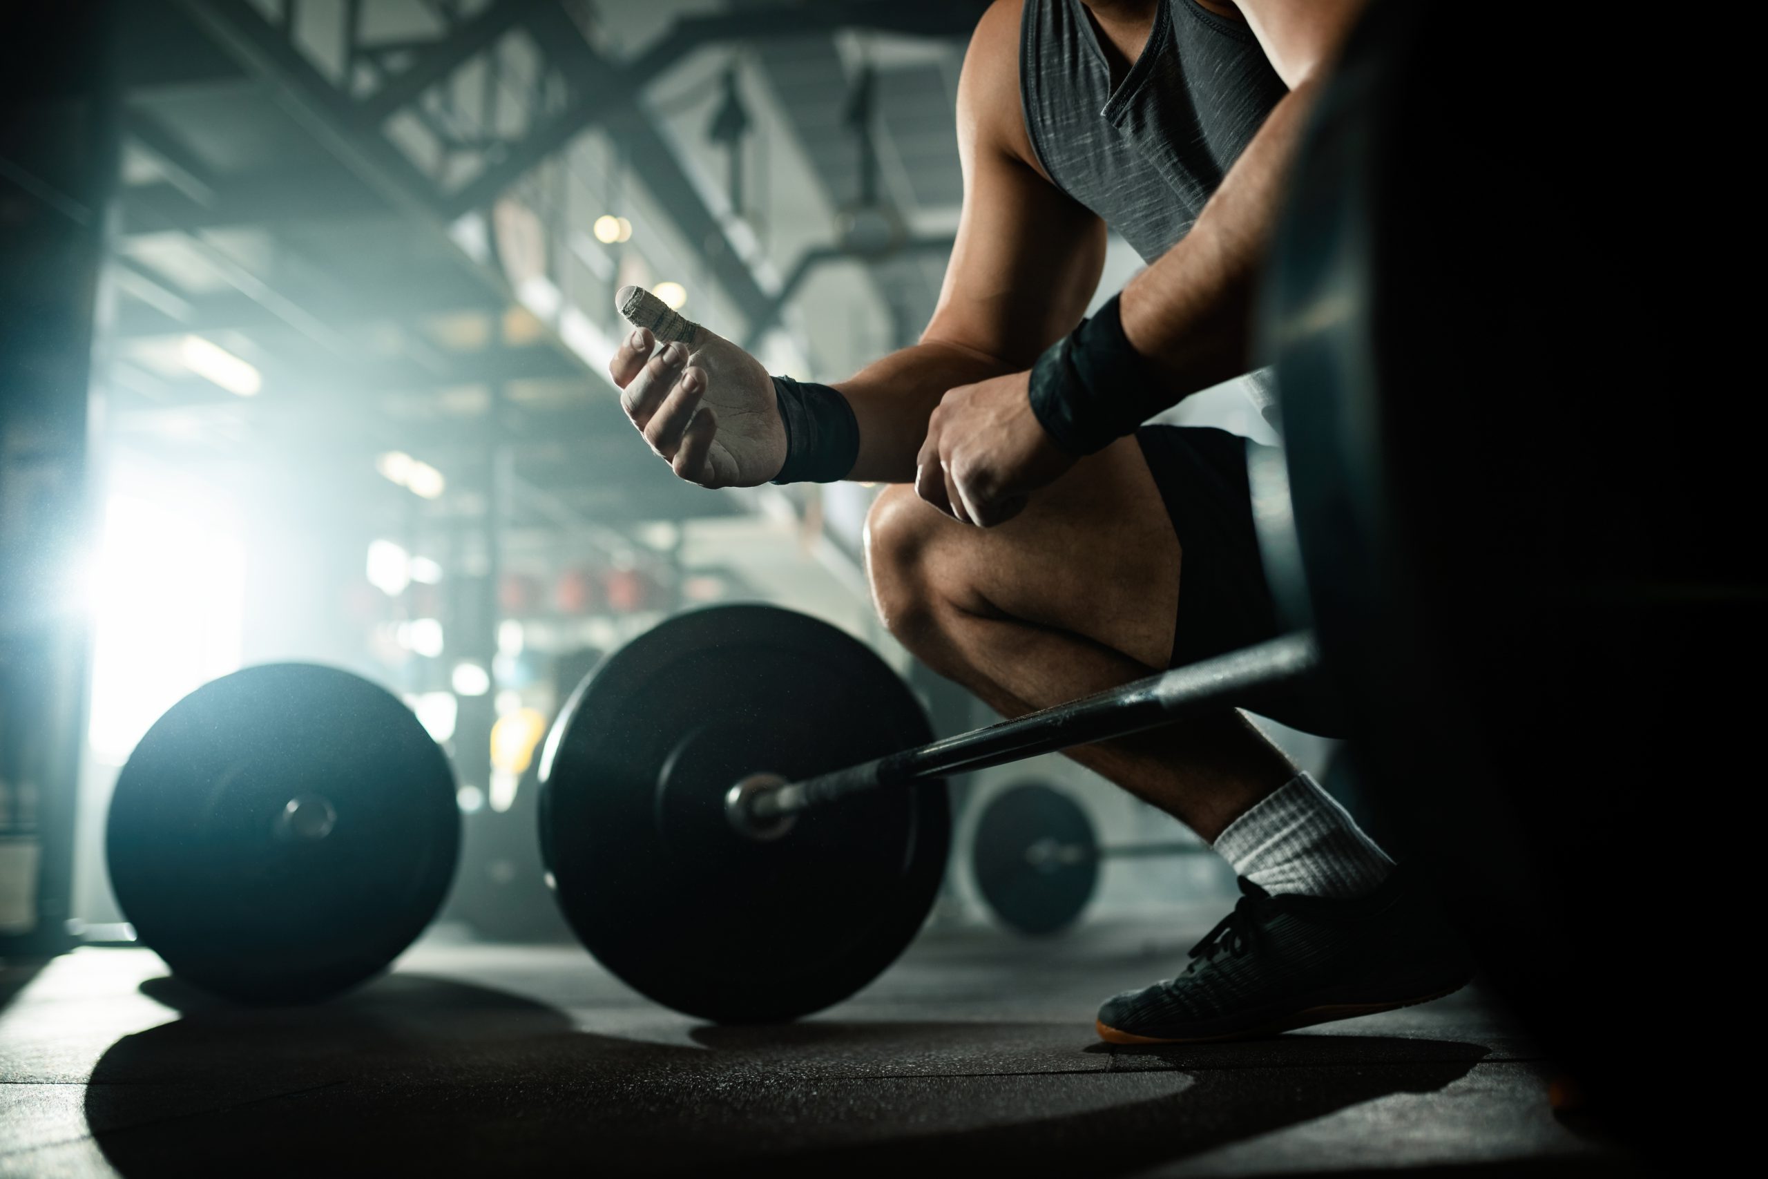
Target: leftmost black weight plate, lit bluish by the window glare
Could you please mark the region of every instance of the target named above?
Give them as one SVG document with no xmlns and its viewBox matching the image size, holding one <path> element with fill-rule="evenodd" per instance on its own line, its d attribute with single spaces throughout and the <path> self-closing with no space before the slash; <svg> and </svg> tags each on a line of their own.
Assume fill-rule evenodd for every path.
<svg viewBox="0 0 1768 1179">
<path fill-rule="evenodd" d="M 175 704 L 117 778 L 106 831 L 136 935 L 179 977 L 260 1002 L 382 970 L 435 916 L 458 850 L 453 772 L 410 709 L 302 663 Z"/>
</svg>

